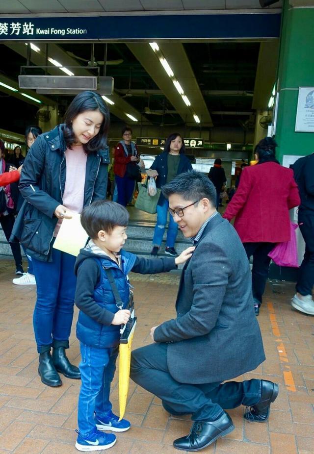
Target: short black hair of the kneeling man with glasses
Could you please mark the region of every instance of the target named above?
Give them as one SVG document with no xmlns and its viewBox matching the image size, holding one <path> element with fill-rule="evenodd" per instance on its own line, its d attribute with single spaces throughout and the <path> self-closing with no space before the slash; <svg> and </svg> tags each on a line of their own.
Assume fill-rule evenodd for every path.
<svg viewBox="0 0 314 454">
<path fill-rule="evenodd" d="M 178 194 L 184 200 L 191 202 L 206 198 L 212 206 L 216 206 L 215 186 L 209 177 L 196 170 L 177 175 L 170 183 L 162 186 L 161 191 L 166 199 L 172 194 Z"/>
</svg>

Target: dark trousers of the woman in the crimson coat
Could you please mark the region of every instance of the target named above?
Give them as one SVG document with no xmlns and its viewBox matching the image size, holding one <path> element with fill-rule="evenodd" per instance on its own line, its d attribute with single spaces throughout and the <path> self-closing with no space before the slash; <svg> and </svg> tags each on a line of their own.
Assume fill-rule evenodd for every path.
<svg viewBox="0 0 314 454">
<path fill-rule="evenodd" d="M 249 260 L 253 255 L 252 293 L 253 298 L 262 304 L 270 263 L 268 254 L 275 247 L 275 243 L 243 243 L 243 246 Z"/>
</svg>

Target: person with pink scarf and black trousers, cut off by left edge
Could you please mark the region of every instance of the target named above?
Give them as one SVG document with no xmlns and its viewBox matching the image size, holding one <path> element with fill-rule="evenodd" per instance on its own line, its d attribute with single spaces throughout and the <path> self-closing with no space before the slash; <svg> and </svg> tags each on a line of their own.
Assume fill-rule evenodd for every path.
<svg viewBox="0 0 314 454">
<path fill-rule="evenodd" d="M 23 275 L 24 270 L 22 266 L 21 248 L 18 243 L 11 243 L 10 236 L 12 233 L 16 206 L 19 197 L 17 184 L 13 182 L 14 179 L 8 179 L 10 175 L 10 164 L 4 160 L 4 143 L 0 140 L 0 226 L 2 227 L 5 238 L 7 239 L 15 261 L 15 274 Z M 8 181 L 9 180 L 9 181 Z"/>
</svg>

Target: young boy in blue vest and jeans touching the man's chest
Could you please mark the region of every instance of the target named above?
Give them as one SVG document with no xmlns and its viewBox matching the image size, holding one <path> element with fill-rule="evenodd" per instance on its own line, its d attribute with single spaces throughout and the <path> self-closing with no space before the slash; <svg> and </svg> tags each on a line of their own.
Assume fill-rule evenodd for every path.
<svg viewBox="0 0 314 454">
<path fill-rule="evenodd" d="M 125 309 L 130 296 L 130 271 L 162 273 L 188 260 L 194 248 L 176 258 L 139 258 L 122 250 L 127 239 L 129 213 L 122 205 L 97 201 L 85 207 L 81 224 L 91 240 L 81 249 L 75 273 L 78 277 L 75 302 L 78 306 L 77 337 L 80 341 L 81 388 L 78 398 L 78 451 L 105 450 L 116 442 L 114 434 L 130 429 L 129 421 L 114 415 L 109 400 L 110 384 L 118 355 L 120 325 L 126 324 Z M 109 269 L 123 307 L 119 310 L 105 269 Z"/>
</svg>

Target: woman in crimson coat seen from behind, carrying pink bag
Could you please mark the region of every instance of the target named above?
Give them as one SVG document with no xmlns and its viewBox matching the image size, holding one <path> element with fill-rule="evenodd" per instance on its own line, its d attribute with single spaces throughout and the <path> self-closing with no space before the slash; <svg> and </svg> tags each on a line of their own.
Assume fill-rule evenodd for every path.
<svg viewBox="0 0 314 454">
<path fill-rule="evenodd" d="M 275 158 L 276 142 L 262 139 L 255 147 L 257 165 L 244 167 L 239 186 L 223 215 L 231 221 L 245 252 L 253 255 L 252 291 L 254 309 L 259 315 L 270 258 L 276 243 L 290 240 L 289 209 L 300 204 L 293 171 Z"/>
</svg>

